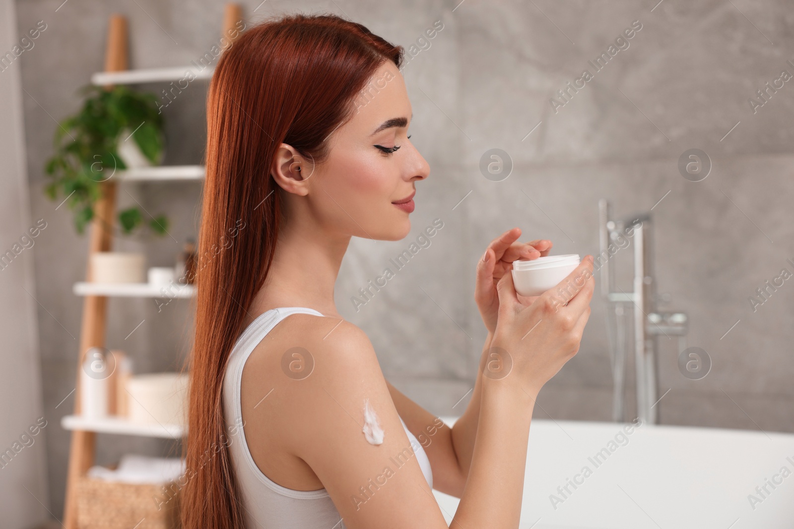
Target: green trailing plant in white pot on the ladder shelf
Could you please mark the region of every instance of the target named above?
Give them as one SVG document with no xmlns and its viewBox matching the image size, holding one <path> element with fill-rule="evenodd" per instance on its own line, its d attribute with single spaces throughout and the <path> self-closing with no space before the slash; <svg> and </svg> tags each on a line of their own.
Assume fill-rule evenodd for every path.
<svg viewBox="0 0 794 529">
<path fill-rule="evenodd" d="M 100 183 L 116 171 L 159 164 L 164 132 L 155 94 L 127 86 L 106 90 L 92 85 L 83 86 L 79 93 L 86 97 L 82 108 L 56 128 L 55 153 L 44 167 L 52 181 L 44 191 L 53 201 L 63 193 L 75 212 L 75 228 L 82 234 L 94 217 Z M 143 225 L 160 236 L 168 230 L 163 214 L 145 222 L 135 206 L 118 213 L 118 224 L 126 234 Z"/>
</svg>

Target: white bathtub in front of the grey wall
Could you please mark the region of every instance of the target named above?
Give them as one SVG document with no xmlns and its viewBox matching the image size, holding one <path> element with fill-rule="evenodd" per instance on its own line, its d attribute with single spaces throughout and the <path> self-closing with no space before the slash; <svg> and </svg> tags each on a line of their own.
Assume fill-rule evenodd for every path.
<svg viewBox="0 0 794 529">
<path fill-rule="evenodd" d="M 519 527 L 794 527 L 794 435 L 624 426 L 533 420 Z M 434 493 L 449 523 L 458 500 Z"/>
</svg>

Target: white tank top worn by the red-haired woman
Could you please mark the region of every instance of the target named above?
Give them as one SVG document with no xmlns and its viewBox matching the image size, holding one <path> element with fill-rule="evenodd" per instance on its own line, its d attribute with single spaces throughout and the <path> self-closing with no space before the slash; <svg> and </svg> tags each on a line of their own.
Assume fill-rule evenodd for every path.
<svg viewBox="0 0 794 529">
<path fill-rule="evenodd" d="M 251 457 L 248 443 L 245 441 L 244 428 L 239 427 L 242 424 L 240 385 L 245 361 L 251 355 L 254 347 L 272 328 L 276 327 L 279 321 L 291 314 L 299 313 L 322 316 L 322 313 L 314 309 L 303 307 L 270 309 L 257 316 L 234 344 L 223 378 L 223 415 L 226 431 L 234 431 L 232 428 L 237 427 L 237 434 L 229 436 L 231 439 L 229 454 L 237 480 L 237 490 L 242 496 L 247 529 L 314 529 L 316 527 L 341 529 L 345 527 L 345 523 L 342 522 L 326 489 L 310 491 L 287 489 L 265 476 Z M 402 418 L 400 422 L 403 423 L 410 446 L 414 449 L 416 460 L 432 489 L 433 473 L 430 470 L 430 461 L 427 459 L 425 450 L 418 443 L 416 437 L 408 431 Z"/>
</svg>

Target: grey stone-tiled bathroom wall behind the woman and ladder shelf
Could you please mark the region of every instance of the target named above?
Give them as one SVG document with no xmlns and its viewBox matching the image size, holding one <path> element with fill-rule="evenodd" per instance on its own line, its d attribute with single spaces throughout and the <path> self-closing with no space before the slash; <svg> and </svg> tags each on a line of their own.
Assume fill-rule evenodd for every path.
<svg viewBox="0 0 794 529">
<path fill-rule="evenodd" d="M 83 306 L 72 285 L 85 279 L 89 239 L 76 234 L 71 211 L 43 193 L 56 121 L 78 109 L 77 90 L 102 71 L 112 13 L 129 20 L 130 67 L 169 67 L 198 60 L 218 43 L 223 5 L 2 0 L 0 6 L 2 53 L 39 21 L 46 24 L 35 46 L 0 71 L 0 250 L 37 220 L 47 226 L 0 273 L 0 447 L 37 417 L 47 420 L 28 453 L 0 470 L 0 504 L 27 505 L 43 519 L 49 517 L 43 506 L 58 517 L 64 507 L 71 432 L 60 418 L 74 408 Z M 442 416 L 459 414 L 471 397 L 486 335 L 474 275 L 488 243 L 518 226 L 521 240 L 552 240 L 554 254 L 596 255 L 598 201 L 606 198 L 615 217 L 651 215 L 658 308 L 686 313 L 687 346 L 711 359 L 707 376 L 688 378 L 679 369 L 678 340 L 661 335 L 658 422 L 794 431 L 794 280 L 767 288 L 782 269 L 794 273 L 787 260 L 794 260 L 794 87 L 785 82 L 791 75 L 781 75 L 794 75 L 788 2 L 253 0 L 241 6 L 249 25 L 297 10 L 337 13 L 410 50 L 403 68 L 414 112 L 409 132 L 430 163 L 430 178 L 418 182 L 410 235 L 352 240 L 335 292 L 341 314 L 364 329 L 384 374 L 409 397 Z M 436 33 L 428 38 L 431 28 Z M 590 61 L 602 54 L 608 61 L 597 70 Z M 569 89 L 584 70 L 592 79 Z M 207 86 L 191 82 L 163 109 L 164 164 L 202 163 Z M 481 170 L 491 149 L 506 153 L 506 178 Z M 707 159 L 700 161 L 711 166 L 696 182 L 680 171 L 691 149 L 703 151 Z M 151 266 L 171 265 L 183 242 L 197 235 L 201 190 L 200 182 L 125 184 L 119 207 L 137 201 L 149 212 L 168 213 L 170 236 L 129 236 L 114 249 L 145 252 Z M 385 286 L 371 289 L 369 282 L 392 267 L 390 259 L 437 219 L 443 227 L 429 244 Z M 626 292 L 633 288 L 631 248 L 610 260 L 616 286 Z M 765 297 L 757 289 L 766 289 Z M 538 418 L 612 420 L 608 305 L 598 289 L 591 306 L 580 351 L 542 389 Z M 190 301 L 159 306 L 151 298 L 110 298 L 108 315 L 108 347 L 133 357 L 137 372 L 182 366 L 191 341 Z M 636 413 L 634 383 L 630 352 L 627 419 Z M 98 435 L 96 461 L 114 462 L 130 451 L 164 454 L 171 446 Z M 13 527 L 33 522 L 18 519 Z"/>
</svg>

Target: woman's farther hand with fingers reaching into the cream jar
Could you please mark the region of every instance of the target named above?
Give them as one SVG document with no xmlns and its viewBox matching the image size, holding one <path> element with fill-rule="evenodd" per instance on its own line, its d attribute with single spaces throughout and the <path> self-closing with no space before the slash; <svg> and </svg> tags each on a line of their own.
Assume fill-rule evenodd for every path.
<svg viewBox="0 0 794 529">
<path fill-rule="evenodd" d="M 517 259 L 538 259 L 549 255 L 552 247 L 550 240 L 533 240 L 518 243 L 521 228 L 513 228 L 496 237 L 488 244 L 485 254 L 477 263 L 477 278 L 474 299 L 485 328 L 491 334 L 496 328 L 496 315 L 499 313 L 499 295 L 496 283 L 504 274 L 511 273 L 512 263 Z"/>
</svg>

